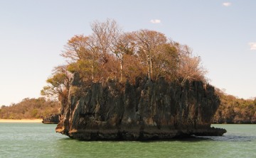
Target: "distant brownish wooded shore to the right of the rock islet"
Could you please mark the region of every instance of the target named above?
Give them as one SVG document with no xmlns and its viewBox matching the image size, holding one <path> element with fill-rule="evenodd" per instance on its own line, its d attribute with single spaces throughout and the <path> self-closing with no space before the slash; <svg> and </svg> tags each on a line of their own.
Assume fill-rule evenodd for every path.
<svg viewBox="0 0 256 158">
<path fill-rule="evenodd" d="M 256 123 L 256 98 L 243 99 L 216 90 L 220 106 L 215 113 L 214 123 Z"/>
</svg>

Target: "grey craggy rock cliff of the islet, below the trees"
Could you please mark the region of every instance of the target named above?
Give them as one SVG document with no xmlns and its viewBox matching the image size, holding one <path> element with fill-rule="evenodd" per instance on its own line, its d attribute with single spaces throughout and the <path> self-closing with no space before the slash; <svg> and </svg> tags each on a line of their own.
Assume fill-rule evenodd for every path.
<svg viewBox="0 0 256 158">
<path fill-rule="evenodd" d="M 161 140 L 223 135 L 210 128 L 220 100 L 201 81 L 181 84 L 137 79 L 82 86 L 75 75 L 56 132 L 79 140 Z"/>
</svg>

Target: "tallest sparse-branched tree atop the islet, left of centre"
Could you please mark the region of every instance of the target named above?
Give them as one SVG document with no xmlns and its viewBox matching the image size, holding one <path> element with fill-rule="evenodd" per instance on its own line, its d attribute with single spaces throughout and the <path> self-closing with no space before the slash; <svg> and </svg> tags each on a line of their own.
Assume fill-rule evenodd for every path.
<svg viewBox="0 0 256 158">
<path fill-rule="evenodd" d="M 110 65 L 114 62 L 112 56 L 120 29 L 116 21 L 110 19 L 102 23 L 95 21 L 91 28 L 92 35 L 75 35 L 68 40 L 61 55 L 71 61 L 68 64 L 70 72 L 79 72 L 84 81 L 95 82 L 110 75 L 110 71 L 117 71 Z"/>
</svg>

